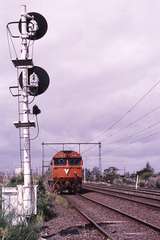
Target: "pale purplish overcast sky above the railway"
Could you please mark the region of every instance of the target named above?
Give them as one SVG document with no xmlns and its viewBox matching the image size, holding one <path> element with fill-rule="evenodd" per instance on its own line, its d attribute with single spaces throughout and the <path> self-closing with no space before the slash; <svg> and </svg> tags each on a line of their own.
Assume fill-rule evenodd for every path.
<svg viewBox="0 0 160 240">
<path fill-rule="evenodd" d="M 50 86 L 33 103 L 42 111 L 39 138 L 32 142 L 33 168 L 41 167 L 42 142 L 101 141 L 103 168 L 133 172 L 149 161 L 160 171 L 159 0 L 1 3 L 0 170 L 20 165 L 18 130 L 13 126 L 17 99 L 9 92 L 17 79 L 6 24 L 19 20 L 23 3 L 48 22 L 46 35 L 34 43 L 34 64 L 48 72 Z M 47 147 L 46 160 L 59 149 Z M 81 150 L 87 167 L 98 165 L 97 147 Z"/>
</svg>

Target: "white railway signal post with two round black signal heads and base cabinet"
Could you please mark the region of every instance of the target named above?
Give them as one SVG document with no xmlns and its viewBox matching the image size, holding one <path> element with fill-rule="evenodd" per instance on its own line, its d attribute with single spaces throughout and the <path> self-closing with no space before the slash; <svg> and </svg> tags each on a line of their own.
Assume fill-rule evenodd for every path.
<svg viewBox="0 0 160 240">
<path fill-rule="evenodd" d="M 12 32 L 15 26 L 19 30 L 19 35 Z M 31 42 L 40 39 L 46 33 L 47 22 L 39 13 L 28 13 L 26 5 L 22 5 L 20 20 L 8 23 L 7 31 L 16 55 L 16 58 L 11 60 L 17 68 L 18 84 L 11 86 L 10 91 L 12 96 L 18 97 L 19 119 L 14 125 L 19 129 L 20 159 L 24 184 L 14 188 L 3 187 L 2 209 L 6 215 L 14 214 L 13 223 L 17 224 L 37 212 L 37 186 L 32 183 L 30 138 L 30 129 L 36 127 L 36 124 L 34 121 L 30 121 L 30 116 L 31 114 L 37 116 L 40 110 L 34 105 L 33 111 L 31 111 L 30 103 L 48 88 L 49 76 L 44 69 L 33 65 L 30 49 L 33 45 Z M 17 39 L 21 41 L 20 57 L 18 57 L 16 47 L 13 44 L 13 40 Z M 17 90 L 17 93 L 13 90 Z M 32 101 L 30 101 L 30 97 Z"/>
</svg>

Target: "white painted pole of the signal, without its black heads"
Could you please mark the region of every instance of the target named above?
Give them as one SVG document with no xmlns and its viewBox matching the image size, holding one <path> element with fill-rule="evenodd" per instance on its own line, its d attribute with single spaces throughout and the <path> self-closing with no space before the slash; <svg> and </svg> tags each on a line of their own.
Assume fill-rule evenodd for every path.
<svg viewBox="0 0 160 240">
<path fill-rule="evenodd" d="M 27 48 L 27 12 L 26 6 L 22 5 L 21 12 L 21 59 L 28 58 Z M 28 106 L 28 69 L 24 67 L 22 69 L 22 81 L 23 81 L 23 106 L 22 106 L 22 121 L 23 123 L 29 123 L 29 106 Z M 23 167 L 24 167 L 24 195 L 23 206 L 25 216 L 32 214 L 32 183 L 31 183 L 31 154 L 30 154 L 30 131 L 29 126 L 25 126 L 22 129 L 23 141 Z"/>
</svg>

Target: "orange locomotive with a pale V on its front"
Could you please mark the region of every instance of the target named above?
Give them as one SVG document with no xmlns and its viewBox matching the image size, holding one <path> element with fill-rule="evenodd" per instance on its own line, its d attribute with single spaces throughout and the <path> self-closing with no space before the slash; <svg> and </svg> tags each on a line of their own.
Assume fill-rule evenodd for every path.
<svg viewBox="0 0 160 240">
<path fill-rule="evenodd" d="M 53 191 L 79 192 L 83 177 L 83 161 L 78 152 L 57 152 L 51 161 L 49 185 Z"/>
</svg>

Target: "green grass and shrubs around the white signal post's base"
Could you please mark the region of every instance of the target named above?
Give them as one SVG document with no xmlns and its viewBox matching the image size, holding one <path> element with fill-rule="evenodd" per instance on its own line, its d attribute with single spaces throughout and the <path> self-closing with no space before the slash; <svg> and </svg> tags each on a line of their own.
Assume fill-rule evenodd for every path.
<svg viewBox="0 0 160 240">
<path fill-rule="evenodd" d="M 13 177 L 10 186 L 16 186 L 23 178 Z M 12 215 L 4 216 L 0 212 L 0 240 L 38 240 L 43 221 L 56 216 L 54 212 L 53 197 L 49 194 L 43 184 L 43 180 L 38 182 L 37 196 L 38 214 L 19 225 L 12 225 Z"/>
</svg>

